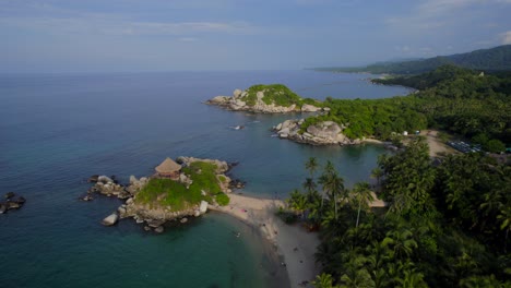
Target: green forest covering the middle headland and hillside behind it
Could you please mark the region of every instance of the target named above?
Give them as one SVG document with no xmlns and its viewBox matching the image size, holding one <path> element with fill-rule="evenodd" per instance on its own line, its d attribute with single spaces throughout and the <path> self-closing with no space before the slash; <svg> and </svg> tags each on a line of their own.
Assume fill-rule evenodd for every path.
<svg viewBox="0 0 511 288">
<path fill-rule="evenodd" d="M 302 131 L 310 124 L 330 120 L 346 125 L 344 133 L 350 139 L 372 135 L 391 140 L 392 132 L 432 128 L 466 139 L 478 136 L 477 143 L 490 152 L 503 151 L 503 143 L 511 143 L 509 75 L 479 75 L 471 70 L 445 65 L 419 76 L 373 82 L 420 91 L 387 99 L 329 97 L 323 105 L 331 108 L 330 113 L 308 118 Z M 480 139 L 486 140 L 482 143 Z"/>
</svg>

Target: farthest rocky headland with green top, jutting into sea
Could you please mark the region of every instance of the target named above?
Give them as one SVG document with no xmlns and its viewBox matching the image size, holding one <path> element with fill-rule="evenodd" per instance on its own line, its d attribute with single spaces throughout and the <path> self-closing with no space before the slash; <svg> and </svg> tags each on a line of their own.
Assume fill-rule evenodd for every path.
<svg viewBox="0 0 511 288">
<path fill-rule="evenodd" d="M 317 112 L 321 103 L 300 98 L 282 84 L 253 85 L 246 91 L 235 89 L 233 96 L 216 96 L 206 101 L 233 111 L 259 113 Z"/>
</svg>

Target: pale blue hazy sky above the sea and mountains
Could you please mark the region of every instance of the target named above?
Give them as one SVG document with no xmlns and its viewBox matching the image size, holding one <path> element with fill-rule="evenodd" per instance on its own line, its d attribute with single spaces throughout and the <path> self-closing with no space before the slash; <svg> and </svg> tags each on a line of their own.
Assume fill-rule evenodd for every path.
<svg viewBox="0 0 511 288">
<path fill-rule="evenodd" d="M 511 0 L 0 0 L 0 72 L 294 70 L 511 44 Z"/>
</svg>

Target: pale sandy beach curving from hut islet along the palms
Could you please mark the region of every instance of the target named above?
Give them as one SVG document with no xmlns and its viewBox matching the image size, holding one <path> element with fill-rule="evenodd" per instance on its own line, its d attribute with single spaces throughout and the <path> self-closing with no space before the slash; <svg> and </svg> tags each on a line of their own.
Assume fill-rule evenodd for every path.
<svg viewBox="0 0 511 288">
<path fill-rule="evenodd" d="M 287 225 L 278 218 L 275 212 L 285 205 L 281 200 L 237 194 L 229 194 L 229 197 L 230 203 L 227 206 L 210 205 L 209 208 L 230 215 L 258 229 L 273 248 L 271 251 L 281 259 L 282 262 L 276 264 L 286 271 L 290 287 L 312 287 L 310 281 L 320 273 L 314 259 L 316 249 L 320 244 L 318 235 L 307 232 L 298 225 Z"/>
</svg>

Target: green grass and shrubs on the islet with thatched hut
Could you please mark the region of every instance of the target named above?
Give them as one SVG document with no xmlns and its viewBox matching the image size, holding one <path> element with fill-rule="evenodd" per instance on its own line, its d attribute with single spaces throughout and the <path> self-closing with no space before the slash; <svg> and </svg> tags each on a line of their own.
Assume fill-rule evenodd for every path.
<svg viewBox="0 0 511 288">
<path fill-rule="evenodd" d="M 212 196 L 216 196 L 216 201 L 228 203 L 228 196 L 222 192 L 216 179 L 215 165 L 195 161 L 182 168 L 182 172 L 193 181 L 189 188 L 170 179 L 151 179 L 136 194 L 135 201 L 152 206 L 169 206 L 171 211 L 189 208 L 198 205 L 202 200 L 211 203 Z"/>
</svg>

